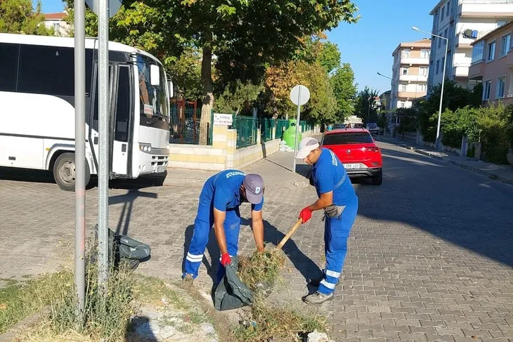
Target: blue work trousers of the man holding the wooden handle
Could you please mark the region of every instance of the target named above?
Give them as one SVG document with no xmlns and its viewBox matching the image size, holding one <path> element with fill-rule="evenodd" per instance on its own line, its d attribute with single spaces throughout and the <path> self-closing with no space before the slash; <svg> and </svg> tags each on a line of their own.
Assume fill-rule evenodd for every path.
<svg viewBox="0 0 513 342">
<path fill-rule="evenodd" d="M 356 220 L 358 213 L 358 199 L 346 206 L 339 217 L 328 218 L 324 221 L 324 252 L 326 267 L 323 280 L 319 284 L 318 291 L 321 294 L 331 294 L 335 291 L 335 285 L 342 273 L 344 259 L 347 253 L 347 238 Z"/>
</svg>

